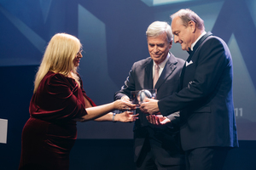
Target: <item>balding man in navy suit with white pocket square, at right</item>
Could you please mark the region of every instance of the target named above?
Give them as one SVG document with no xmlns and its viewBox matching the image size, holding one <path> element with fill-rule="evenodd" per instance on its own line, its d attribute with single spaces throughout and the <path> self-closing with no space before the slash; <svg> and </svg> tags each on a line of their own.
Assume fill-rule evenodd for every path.
<svg viewBox="0 0 256 170">
<path fill-rule="evenodd" d="M 160 111 L 163 116 L 180 111 L 187 169 L 222 169 L 228 150 L 238 147 L 230 50 L 222 39 L 205 31 L 203 20 L 190 9 L 181 9 L 171 18 L 174 42 L 189 52 L 180 89 L 164 99 L 147 99 L 141 109 L 149 114 Z"/>
</svg>

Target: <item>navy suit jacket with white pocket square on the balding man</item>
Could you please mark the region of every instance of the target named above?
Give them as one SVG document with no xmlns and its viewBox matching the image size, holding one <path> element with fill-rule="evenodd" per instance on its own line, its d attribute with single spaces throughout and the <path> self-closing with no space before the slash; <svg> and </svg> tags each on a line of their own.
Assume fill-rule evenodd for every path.
<svg viewBox="0 0 256 170">
<path fill-rule="evenodd" d="M 228 46 L 208 32 L 196 42 L 180 77 L 180 91 L 158 102 L 160 112 L 180 111 L 183 150 L 237 147 Z"/>
</svg>

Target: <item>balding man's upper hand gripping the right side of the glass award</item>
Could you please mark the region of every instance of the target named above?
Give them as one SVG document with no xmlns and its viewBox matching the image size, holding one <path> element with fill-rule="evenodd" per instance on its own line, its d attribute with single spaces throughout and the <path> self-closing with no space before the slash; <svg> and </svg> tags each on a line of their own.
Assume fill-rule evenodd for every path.
<svg viewBox="0 0 256 170">
<path fill-rule="evenodd" d="M 146 98 L 144 101 L 145 102 L 143 102 L 143 104 L 141 104 L 140 106 L 141 111 L 143 111 L 144 113 L 148 113 L 150 115 L 159 112 L 157 99 Z"/>
</svg>

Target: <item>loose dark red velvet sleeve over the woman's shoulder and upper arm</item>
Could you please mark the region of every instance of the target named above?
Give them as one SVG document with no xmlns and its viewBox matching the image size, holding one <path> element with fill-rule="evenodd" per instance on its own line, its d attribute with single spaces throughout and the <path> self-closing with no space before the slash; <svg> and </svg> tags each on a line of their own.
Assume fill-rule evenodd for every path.
<svg viewBox="0 0 256 170">
<path fill-rule="evenodd" d="M 69 121 L 86 115 L 82 89 L 61 74 L 47 74 L 33 95 L 31 115 L 47 121 Z"/>
</svg>

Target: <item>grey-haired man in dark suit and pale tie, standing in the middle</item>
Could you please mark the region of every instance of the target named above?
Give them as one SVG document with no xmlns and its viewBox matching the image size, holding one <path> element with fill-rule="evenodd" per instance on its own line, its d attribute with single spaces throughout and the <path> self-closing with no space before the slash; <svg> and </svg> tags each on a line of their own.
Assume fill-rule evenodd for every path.
<svg viewBox="0 0 256 170">
<path fill-rule="evenodd" d="M 166 22 L 155 21 L 146 31 L 150 57 L 132 65 L 125 85 L 114 95 L 114 99 L 130 100 L 131 91 L 157 89 L 156 99 L 163 99 L 178 89 L 183 59 L 177 59 L 169 50 L 172 48 L 172 29 Z M 159 70 L 154 70 L 159 65 Z M 154 77 L 159 76 L 154 85 Z M 137 169 L 184 169 L 184 156 L 179 149 L 178 114 L 165 115 L 174 120 L 162 127 L 150 124 L 139 109 L 139 119 L 134 126 L 134 161 Z M 161 113 L 163 114 L 163 113 Z"/>
</svg>

